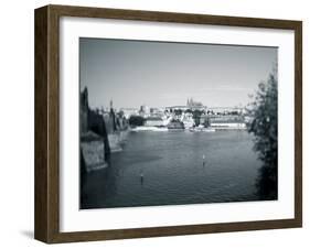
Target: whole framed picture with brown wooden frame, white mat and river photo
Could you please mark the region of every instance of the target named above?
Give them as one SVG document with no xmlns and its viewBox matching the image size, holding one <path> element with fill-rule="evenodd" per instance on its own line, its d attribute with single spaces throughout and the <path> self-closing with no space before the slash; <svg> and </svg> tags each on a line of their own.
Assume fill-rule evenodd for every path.
<svg viewBox="0 0 310 249">
<path fill-rule="evenodd" d="M 35 238 L 302 226 L 302 23 L 35 10 Z"/>
</svg>

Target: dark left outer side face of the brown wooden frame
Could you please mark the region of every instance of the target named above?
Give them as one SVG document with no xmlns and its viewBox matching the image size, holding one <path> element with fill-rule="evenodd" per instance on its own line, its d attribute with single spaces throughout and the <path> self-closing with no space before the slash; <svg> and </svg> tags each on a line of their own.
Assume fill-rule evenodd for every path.
<svg viewBox="0 0 310 249">
<path fill-rule="evenodd" d="M 34 238 L 47 236 L 47 7 L 34 11 Z"/>
</svg>

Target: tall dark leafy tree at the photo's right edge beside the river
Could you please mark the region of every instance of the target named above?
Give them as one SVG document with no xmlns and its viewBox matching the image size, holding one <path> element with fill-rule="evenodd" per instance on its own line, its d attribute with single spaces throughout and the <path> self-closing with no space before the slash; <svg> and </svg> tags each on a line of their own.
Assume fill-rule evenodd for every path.
<svg viewBox="0 0 310 249">
<path fill-rule="evenodd" d="M 278 196 L 278 78 L 274 71 L 267 82 L 258 85 L 254 101 L 247 109 L 253 120 L 248 131 L 254 134 L 254 150 L 263 166 L 257 178 L 258 194 L 264 199 Z"/>
</svg>

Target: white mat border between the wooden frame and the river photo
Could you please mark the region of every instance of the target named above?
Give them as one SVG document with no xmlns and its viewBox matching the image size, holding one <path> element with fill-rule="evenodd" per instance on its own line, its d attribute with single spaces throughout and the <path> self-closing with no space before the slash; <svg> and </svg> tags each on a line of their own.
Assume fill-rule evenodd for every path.
<svg viewBox="0 0 310 249">
<path fill-rule="evenodd" d="M 293 218 L 293 31 L 85 18 L 61 18 L 60 24 L 60 231 Z M 79 37 L 278 47 L 278 201 L 81 210 Z"/>
</svg>

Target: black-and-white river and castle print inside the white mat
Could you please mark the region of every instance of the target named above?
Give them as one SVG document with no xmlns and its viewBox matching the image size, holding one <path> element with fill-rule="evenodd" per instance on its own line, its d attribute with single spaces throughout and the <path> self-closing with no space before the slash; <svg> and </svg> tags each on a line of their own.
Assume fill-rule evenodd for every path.
<svg viewBox="0 0 310 249">
<path fill-rule="evenodd" d="M 79 37 L 79 208 L 278 199 L 278 47 Z"/>
</svg>

